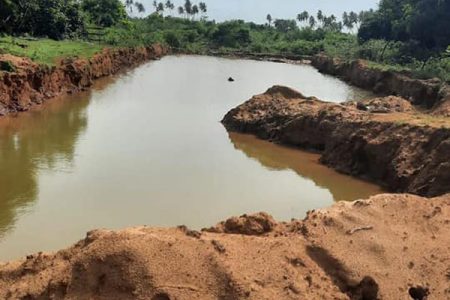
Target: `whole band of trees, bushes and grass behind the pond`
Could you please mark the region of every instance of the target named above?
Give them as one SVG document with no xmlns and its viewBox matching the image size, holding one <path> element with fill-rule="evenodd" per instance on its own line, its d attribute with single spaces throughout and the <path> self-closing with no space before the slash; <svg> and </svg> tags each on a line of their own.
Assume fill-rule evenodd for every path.
<svg viewBox="0 0 450 300">
<path fill-rule="evenodd" d="M 180 4 L 178 1 L 178 4 Z M 59 57 L 89 57 L 102 47 L 162 43 L 185 53 L 311 56 L 365 59 L 374 68 L 416 78 L 450 81 L 450 1 L 381 0 L 377 10 L 342 16 L 299 12 L 295 19 L 267 14 L 266 24 L 208 20 L 204 2 L 135 0 L 0 0 L 0 49 L 52 64 Z M 35 43 L 8 36 L 48 37 Z M 13 40 L 12 42 L 5 42 Z M 91 41 L 89 44 L 84 41 Z"/>
</svg>

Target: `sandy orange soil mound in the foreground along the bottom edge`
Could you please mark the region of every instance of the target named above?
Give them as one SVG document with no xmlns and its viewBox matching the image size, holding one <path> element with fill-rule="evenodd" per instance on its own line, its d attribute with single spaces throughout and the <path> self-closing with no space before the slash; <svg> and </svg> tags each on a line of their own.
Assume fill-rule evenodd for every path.
<svg viewBox="0 0 450 300">
<path fill-rule="evenodd" d="M 0 299 L 450 299 L 450 195 L 378 195 L 202 232 L 96 230 L 0 265 Z"/>
</svg>

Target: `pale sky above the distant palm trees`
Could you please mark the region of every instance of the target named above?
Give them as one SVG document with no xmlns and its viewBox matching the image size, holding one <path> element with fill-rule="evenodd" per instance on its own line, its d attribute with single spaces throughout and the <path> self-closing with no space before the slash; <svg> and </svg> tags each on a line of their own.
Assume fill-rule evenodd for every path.
<svg viewBox="0 0 450 300">
<path fill-rule="evenodd" d="M 153 12 L 153 0 L 140 0 L 147 13 Z M 191 0 L 197 3 L 201 0 Z M 376 8 L 379 0 L 203 0 L 208 5 L 210 20 L 224 21 L 243 19 L 256 23 L 265 23 L 267 14 L 273 19 L 293 19 L 298 13 L 306 10 L 317 12 L 321 9 L 326 15 L 342 16 L 344 11 L 368 10 Z M 165 2 L 165 1 L 163 1 Z M 184 0 L 172 0 L 177 6 Z"/>
</svg>

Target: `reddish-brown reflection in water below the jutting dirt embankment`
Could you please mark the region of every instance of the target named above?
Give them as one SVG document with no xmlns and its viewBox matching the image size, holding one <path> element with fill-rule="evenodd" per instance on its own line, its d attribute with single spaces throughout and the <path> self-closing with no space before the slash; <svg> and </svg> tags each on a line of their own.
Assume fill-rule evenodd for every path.
<svg viewBox="0 0 450 300">
<path fill-rule="evenodd" d="M 260 140 L 252 135 L 230 133 L 234 147 L 271 170 L 290 169 L 327 189 L 335 201 L 357 200 L 382 192 L 372 183 L 333 171 L 319 163 L 319 154 L 284 147 Z"/>
</svg>

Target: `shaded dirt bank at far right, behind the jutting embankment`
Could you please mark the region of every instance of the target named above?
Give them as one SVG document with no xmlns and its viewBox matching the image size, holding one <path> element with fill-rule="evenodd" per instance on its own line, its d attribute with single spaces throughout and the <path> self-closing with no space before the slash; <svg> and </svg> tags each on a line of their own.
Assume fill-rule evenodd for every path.
<svg viewBox="0 0 450 300">
<path fill-rule="evenodd" d="M 434 108 L 439 115 L 450 116 L 450 109 L 441 107 L 450 102 L 450 91 L 439 79 L 413 79 L 404 74 L 370 68 L 363 60 L 347 62 L 326 55 L 314 56 L 312 65 L 322 73 L 338 76 L 358 87 L 377 94 L 400 96 L 415 105 Z"/>
</svg>

